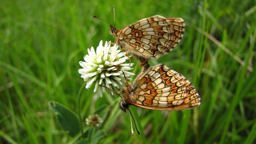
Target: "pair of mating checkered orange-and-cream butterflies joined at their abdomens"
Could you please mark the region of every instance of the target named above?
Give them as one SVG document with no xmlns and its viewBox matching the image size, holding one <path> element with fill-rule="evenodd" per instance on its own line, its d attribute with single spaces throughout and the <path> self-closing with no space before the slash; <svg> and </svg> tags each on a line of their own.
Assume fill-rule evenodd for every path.
<svg viewBox="0 0 256 144">
<path fill-rule="evenodd" d="M 110 34 L 115 38 L 115 44 L 142 62 L 142 72 L 133 85 L 126 79 L 127 84 L 116 92 L 123 92 L 120 103 L 122 110 L 126 111 L 129 105 L 155 110 L 182 110 L 200 105 L 195 87 L 184 76 L 164 65 L 151 68 L 148 65 L 149 59 L 157 59 L 172 51 L 180 42 L 184 29 L 183 19 L 160 15 L 139 20 L 121 29 L 110 24 Z"/>
</svg>

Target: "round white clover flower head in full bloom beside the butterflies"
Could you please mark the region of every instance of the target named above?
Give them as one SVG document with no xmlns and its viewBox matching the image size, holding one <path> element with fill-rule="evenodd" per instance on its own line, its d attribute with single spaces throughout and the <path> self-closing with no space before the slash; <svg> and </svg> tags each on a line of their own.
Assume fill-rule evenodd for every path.
<svg viewBox="0 0 256 144">
<path fill-rule="evenodd" d="M 128 72 L 132 69 L 133 63 L 130 66 L 130 63 L 124 63 L 129 59 L 125 56 L 126 52 L 120 52 L 121 50 L 117 49 L 118 45 L 115 44 L 110 47 L 108 42 L 103 46 L 101 40 L 96 52 L 93 47 L 91 50 L 88 49 L 88 55 L 84 56 L 85 61 L 79 62 L 83 68 L 79 69 L 78 72 L 84 81 L 87 81 L 85 88 L 88 89 L 95 83 L 94 92 L 99 88 L 100 97 L 102 97 L 102 92 L 105 92 L 105 87 L 101 87 L 99 84 L 119 91 L 116 88 L 122 88 L 123 83 L 126 83 L 124 75 L 126 77 L 135 75 Z M 113 95 L 113 92 L 110 92 Z"/>
</svg>

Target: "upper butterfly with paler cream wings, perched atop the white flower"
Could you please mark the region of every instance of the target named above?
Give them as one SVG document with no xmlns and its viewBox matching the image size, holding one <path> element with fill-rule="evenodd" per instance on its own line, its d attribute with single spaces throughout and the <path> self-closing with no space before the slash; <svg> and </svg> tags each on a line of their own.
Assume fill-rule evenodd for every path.
<svg viewBox="0 0 256 144">
<path fill-rule="evenodd" d="M 157 59 L 172 51 L 180 42 L 184 30 L 183 19 L 160 15 L 139 20 L 121 29 L 110 24 L 110 34 L 115 38 L 115 44 L 128 50 L 141 62 Z"/>
</svg>

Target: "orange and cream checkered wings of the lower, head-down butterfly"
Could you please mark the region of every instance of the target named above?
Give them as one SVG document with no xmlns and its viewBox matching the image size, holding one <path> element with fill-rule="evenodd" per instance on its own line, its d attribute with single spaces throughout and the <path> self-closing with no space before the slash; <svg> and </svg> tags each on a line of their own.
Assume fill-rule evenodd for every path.
<svg viewBox="0 0 256 144">
<path fill-rule="evenodd" d="M 134 81 L 130 104 L 156 110 L 182 110 L 200 105 L 195 87 L 181 74 L 158 65 Z"/>
</svg>

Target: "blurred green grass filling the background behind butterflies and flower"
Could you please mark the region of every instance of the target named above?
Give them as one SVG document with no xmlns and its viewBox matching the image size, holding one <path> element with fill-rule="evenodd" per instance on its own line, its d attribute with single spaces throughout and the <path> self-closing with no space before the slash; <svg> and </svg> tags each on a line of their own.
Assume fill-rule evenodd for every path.
<svg viewBox="0 0 256 144">
<path fill-rule="evenodd" d="M 162 15 L 185 20 L 184 37 L 175 49 L 150 65 L 164 63 L 196 87 L 201 106 L 157 111 L 131 106 L 142 132 L 131 135 L 120 98 L 99 98 L 93 87 L 80 101 L 85 118 L 108 106 L 99 143 L 256 143 L 255 37 L 256 2 L 252 0 L 156 1 L 10 0 L 0 5 L 0 143 L 74 143 L 48 101 L 78 113 L 83 86 L 78 69 L 87 48 L 112 41 L 109 24 L 122 28 Z M 208 33 L 207 33 L 208 31 Z M 133 73 L 140 72 L 132 58 Z M 104 117 L 105 116 L 105 117 Z"/>
</svg>

